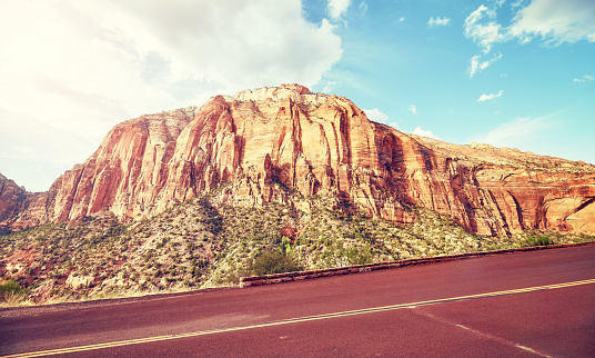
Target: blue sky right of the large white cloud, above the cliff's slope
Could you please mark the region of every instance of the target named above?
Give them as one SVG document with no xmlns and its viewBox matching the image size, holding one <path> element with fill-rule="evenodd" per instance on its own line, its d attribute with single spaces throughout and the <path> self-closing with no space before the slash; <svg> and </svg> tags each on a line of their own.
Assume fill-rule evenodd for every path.
<svg viewBox="0 0 595 358">
<path fill-rule="evenodd" d="M 314 90 L 406 132 L 595 162 L 595 2 L 574 2 L 353 1 L 336 21 L 342 59 Z M 306 17 L 324 19 L 323 3 Z M 553 20 L 573 31 L 545 32 Z"/>
</svg>

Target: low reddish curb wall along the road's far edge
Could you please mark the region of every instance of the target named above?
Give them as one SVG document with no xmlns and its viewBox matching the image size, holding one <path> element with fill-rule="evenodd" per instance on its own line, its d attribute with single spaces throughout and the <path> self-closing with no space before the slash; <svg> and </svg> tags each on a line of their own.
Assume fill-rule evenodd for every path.
<svg viewBox="0 0 595 358">
<path fill-rule="evenodd" d="M 549 250 L 549 249 L 559 249 L 559 248 L 588 246 L 588 245 L 595 245 L 595 241 L 565 243 L 565 245 L 533 246 L 533 247 L 518 248 L 518 249 L 480 251 L 480 252 L 470 252 L 470 253 L 460 253 L 460 255 L 450 255 L 450 256 L 437 256 L 437 257 L 423 258 L 423 259 L 409 259 L 409 260 L 399 260 L 399 261 L 386 261 L 386 262 L 376 262 L 376 263 L 367 263 L 367 265 L 346 266 L 346 267 L 339 267 L 339 268 L 323 269 L 323 270 L 298 271 L 298 272 L 286 272 L 286 274 L 275 274 L 275 275 L 264 275 L 264 276 L 251 276 L 251 277 L 240 278 L 240 287 L 262 286 L 262 285 L 288 282 L 288 281 L 307 280 L 307 279 L 329 277 L 329 276 L 370 272 L 370 271 L 375 271 L 375 270 L 393 269 L 397 267 L 463 260 L 467 258 L 498 255 L 498 253 Z"/>
</svg>

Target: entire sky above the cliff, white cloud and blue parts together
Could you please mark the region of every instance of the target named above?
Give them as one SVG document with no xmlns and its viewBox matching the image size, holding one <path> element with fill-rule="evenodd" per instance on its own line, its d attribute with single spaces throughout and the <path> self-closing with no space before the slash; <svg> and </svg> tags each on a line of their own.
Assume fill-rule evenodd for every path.
<svg viewBox="0 0 595 358">
<path fill-rule="evenodd" d="M 281 83 L 595 163 L 595 1 L 0 0 L 0 173 L 44 191 L 121 121 Z"/>
</svg>

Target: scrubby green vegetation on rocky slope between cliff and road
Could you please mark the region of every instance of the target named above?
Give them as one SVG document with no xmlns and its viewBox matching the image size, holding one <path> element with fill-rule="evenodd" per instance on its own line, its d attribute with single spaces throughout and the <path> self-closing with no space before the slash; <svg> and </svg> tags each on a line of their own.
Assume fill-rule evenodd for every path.
<svg viewBox="0 0 595 358">
<path fill-rule="evenodd" d="M 399 226 L 347 210 L 332 196 L 300 200 L 307 211 L 279 202 L 238 208 L 213 191 L 129 225 L 103 213 L 72 227 L 0 235 L 0 305 L 233 286 L 241 276 L 594 240 L 538 231 L 482 237 L 421 208 L 412 209 L 414 223 Z"/>
</svg>

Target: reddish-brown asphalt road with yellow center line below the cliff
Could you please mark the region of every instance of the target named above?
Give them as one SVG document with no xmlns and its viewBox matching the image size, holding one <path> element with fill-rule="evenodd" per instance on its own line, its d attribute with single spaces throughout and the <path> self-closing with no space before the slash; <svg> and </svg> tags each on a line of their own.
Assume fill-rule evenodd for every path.
<svg viewBox="0 0 595 358">
<path fill-rule="evenodd" d="M 2 310 L 7 355 L 595 357 L 595 246 Z"/>
</svg>

